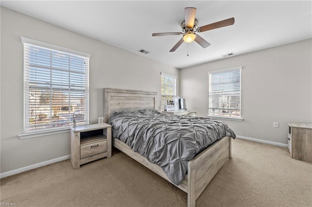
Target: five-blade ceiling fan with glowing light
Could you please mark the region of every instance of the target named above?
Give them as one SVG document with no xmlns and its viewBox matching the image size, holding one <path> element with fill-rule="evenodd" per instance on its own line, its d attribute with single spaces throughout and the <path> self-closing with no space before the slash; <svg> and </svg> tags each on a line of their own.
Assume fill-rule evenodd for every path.
<svg viewBox="0 0 312 207">
<path fill-rule="evenodd" d="M 196 8 L 187 7 L 184 9 L 185 20 L 181 23 L 182 32 L 176 33 L 153 33 L 152 36 L 166 36 L 166 35 L 183 35 L 183 37 L 176 43 L 176 45 L 169 51 L 175 52 L 176 49 L 184 42 L 197 42 L 201 47 L 207 48 L 210 43 L 196 33 L 205 32 L 208 30 L 217 29 L 220 27 L 230 26 L 234 24 L 234 17 L 217 21 L 212 24 L 197 27 L 197 19 L 195 18 Z"/>
</svg>

